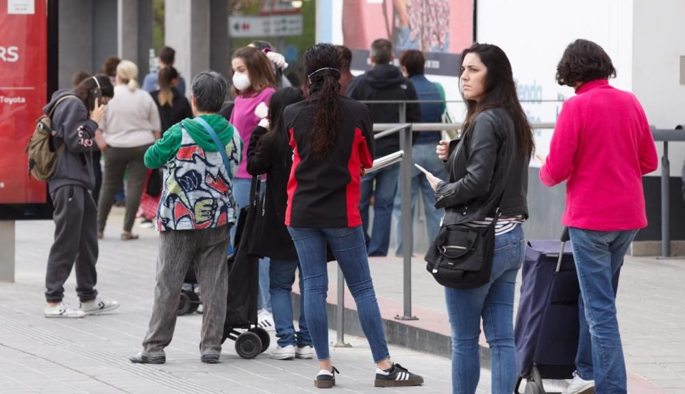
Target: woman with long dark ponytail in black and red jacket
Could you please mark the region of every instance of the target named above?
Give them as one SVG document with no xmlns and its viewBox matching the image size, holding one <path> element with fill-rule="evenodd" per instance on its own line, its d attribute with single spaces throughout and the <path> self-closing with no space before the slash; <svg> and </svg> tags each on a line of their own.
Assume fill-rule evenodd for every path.
<svg viewBox="0 0 685 394">
<path fill-rule="evenodd" d="M 376 363 L 374 385 L 416 386 L 423 378 L 390 361 L 366 255 L 359 213 L 360 179 L 373 166 L 369 109 L 340 96 L 340 53 L 316 44 L 303 57 L 310 98 L 286 107 L 284 129 L 293 152 L 286 226 L 304 279 L 304 305 L 320 371 L 314 386 L 335 385 L 328 352 L 326 244 L 343 270 Z"/>
</svg>

